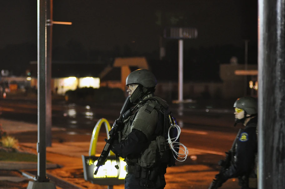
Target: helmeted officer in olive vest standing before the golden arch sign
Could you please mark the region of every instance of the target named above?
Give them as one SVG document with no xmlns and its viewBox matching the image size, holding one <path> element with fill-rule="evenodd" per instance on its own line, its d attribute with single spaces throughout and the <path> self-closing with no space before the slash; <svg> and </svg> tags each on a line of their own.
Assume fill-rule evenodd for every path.
<svg viewBox="0 0 285 189">
<path fill-rule="evenodd" d="M 157 156 L 160 144 L 156 139 L 163 135 L 163 126 L 158 123 L 164 123 L 164 118 L 159 111 L 168 109 L 168 104 L 154 96 L 157 80 L 149 70 L 131 72 L 126 85 L 134 107 L 132 114 L 123 120 L 123 131 L 112 146 L 112 151 L 127 163 L 125 189 L 162 189 L 166 185 L 167 165 Z"/>
</svg>

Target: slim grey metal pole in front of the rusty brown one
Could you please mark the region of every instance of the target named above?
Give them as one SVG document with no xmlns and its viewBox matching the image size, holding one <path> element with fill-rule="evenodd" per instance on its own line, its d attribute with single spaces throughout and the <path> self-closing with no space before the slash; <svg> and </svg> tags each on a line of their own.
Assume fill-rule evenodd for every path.
<svg viewBox="0 0 285 189">
<path fill-rule="evenodd" d="M 46 1 L 37 0 L 37 182 L 46 177 Z"/>
</svg>

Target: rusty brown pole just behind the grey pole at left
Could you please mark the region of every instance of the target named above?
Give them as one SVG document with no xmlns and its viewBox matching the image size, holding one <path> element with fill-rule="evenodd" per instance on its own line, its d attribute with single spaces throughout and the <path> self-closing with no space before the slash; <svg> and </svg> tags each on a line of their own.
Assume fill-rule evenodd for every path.
<svg viewBox="0 0 285 189">
<path fill-rule="evenodd" d="M 47 0 L 47 21 L 53 20 L 53 0 Z M 52 146 L 52 41 L 53 24 L 47 24 L 46 145 Z"/>
</svg>

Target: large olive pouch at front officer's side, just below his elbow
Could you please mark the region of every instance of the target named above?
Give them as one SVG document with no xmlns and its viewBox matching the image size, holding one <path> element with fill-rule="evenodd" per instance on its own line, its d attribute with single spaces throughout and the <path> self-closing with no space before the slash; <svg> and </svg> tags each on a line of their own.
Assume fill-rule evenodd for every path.
<svg viewBox="0 0 285 189">
<path fill-rule="evenodd" d="M 156 162 L 156 152 L 157 144 L 156 141 L 153 140 L 149 144 L 148 148 L 143 152 L 141 158 L 138 160 L 139 165 L 145 168 L 153 167 Z"/>
</svg>

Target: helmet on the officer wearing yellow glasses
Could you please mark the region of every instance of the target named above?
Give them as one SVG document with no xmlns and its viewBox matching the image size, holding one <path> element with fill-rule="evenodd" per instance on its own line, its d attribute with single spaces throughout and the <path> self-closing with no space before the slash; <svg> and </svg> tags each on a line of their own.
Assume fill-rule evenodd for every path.
<svg viewBox="0 0 285 189">
<path fill-rule="evenodd" d="M 247 114 L 257 114 L 257 99 L 241 97 L 235 101 L 233 107 L 243 109 Z"/>
</svg>

